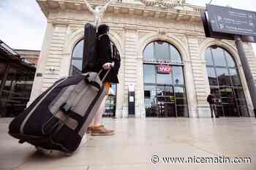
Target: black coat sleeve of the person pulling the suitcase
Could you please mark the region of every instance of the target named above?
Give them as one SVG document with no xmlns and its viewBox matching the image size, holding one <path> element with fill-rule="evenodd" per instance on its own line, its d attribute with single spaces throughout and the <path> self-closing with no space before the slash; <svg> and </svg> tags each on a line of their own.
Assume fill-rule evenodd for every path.
<svg viewBox="0 0 256 170">
<path fill-rule="evenodd" d="M 104 63 L 111 63 L 111 47 L 110 47 L 110 38 L 107 34 L 102 35 L 98 39 L 98 53 L 99 53 L 99 61 L 100 64 L 103 65 Z"/>
</svg>

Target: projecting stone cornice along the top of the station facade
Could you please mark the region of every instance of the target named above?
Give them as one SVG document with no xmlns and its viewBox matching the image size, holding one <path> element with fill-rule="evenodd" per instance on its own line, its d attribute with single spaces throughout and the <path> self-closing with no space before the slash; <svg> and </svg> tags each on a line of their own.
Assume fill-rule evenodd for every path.
<svg viewBox="0 0 256 170">
<path fill-rule="evenodd" d="M 86 4 L 82 0 L 37 0 L 37 3 L 44 12 L 46 18 L 50 12 L 60 12 L 65 10 L 86 11 Z M 89 1 L 92 6 L 101 5 L 102 1 Z M 161 7 L 147 7 L 145 4 L 128 4 L 123 2 L 113 2 L 109 5 L 107 12 L 122 14 L 122 15 L 135 15 L 145 18 L 162 18 L 166 20 L 187 21 L 192 23 L 201 22 L 200 12 L 204 7 L 192 6 L 184 4 L 183 9 L 176 8 L 161 8 Z M 189 7 L 192 10 L 184 10 Z"/>
</svg>

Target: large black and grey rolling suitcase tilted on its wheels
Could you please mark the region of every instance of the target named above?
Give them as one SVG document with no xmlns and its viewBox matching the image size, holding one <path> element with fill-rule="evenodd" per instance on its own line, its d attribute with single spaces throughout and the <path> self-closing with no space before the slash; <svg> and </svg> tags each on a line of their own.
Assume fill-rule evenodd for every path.
<svg viewBox="0 0 256 170">
<path fill-rule="evenodd" d="M 101 72 L 101 71 L 100 71 Z M 10 123 L 9 134 L 20 143 L 46 150 L 74 152 L 106 95 L 99 73 L 66 77 L 48 90 Z"/>
</svg>

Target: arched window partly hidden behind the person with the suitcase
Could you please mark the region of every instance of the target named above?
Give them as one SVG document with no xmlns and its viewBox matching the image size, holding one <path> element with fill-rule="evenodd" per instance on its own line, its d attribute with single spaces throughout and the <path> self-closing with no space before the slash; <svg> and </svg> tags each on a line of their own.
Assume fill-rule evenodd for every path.
<svg viewBox="0 0 256 170">
<path fill-rule="evenodd" d="M 112 45 L 114 45 L 111 42 Z M 78 75 L 82 72 L 83 63 L 83 39 L 75 45 L 72 53 L 70 75 Z M 116 84 L 111 84 L 110 94 L 106 101 L 106 110 L 104 116 L 115 117 L 116 115 Z"/>
</svg>

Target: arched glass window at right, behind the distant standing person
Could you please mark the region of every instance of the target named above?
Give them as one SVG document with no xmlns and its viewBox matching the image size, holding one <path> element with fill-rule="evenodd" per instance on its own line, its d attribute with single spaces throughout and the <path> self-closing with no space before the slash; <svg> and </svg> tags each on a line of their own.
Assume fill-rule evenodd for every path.
<svg viewBox="0 0 256 170">
<path fill-rule="evenodd" d="M 210 88 L 217 96 L 218 115 L 249 116 L 236 62 L 230 53 L 214 46 L 206 50 L 205 58 Z"/>
</svg>

